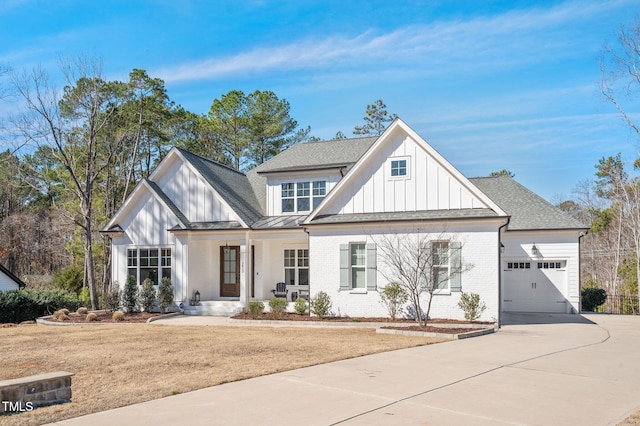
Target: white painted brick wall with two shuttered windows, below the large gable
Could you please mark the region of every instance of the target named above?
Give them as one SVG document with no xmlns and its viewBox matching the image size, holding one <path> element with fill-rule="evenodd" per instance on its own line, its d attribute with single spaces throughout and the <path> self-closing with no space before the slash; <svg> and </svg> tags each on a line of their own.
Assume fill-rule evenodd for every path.
<svg viewBox="0 0 640 426">
<path fill-rule="evenodd" d="M 462 275 L 462 290 L 464 292 L 479 293 L 487 310 L 482 320 L 497 321 L 499 310 L 498 297 L 498 234 L 497 225 L 456 225 L 449 226 L 447 235 L 462 243 L 463 265 L 473 265 Z M 348 228 L 311 229 L 309 239 L 310 248 L 310 287 L 311 295 L 324 291 L 333 301 L 333 311 L 336 315 L 386 317 L 388 313 L 380 301 L 377 291 L 351 292 L 340 291 L 340 245 L 351 242 L 375 243 L 380 238 L 380 228 L 377 230 Z M 385 229 L 383 232 L 415 232 L 414 228 Z M 422 229 L 422 232 L 427 232 Z M 433 238 L 441 236 L 441 230 L 433 229 Z M 386 266 L 378 252 L 378 287 L 383 287 L 388 280 L 382 274 Z M 464 313 L 458 307 L 461 293 L 438 294 L 434 296 L 430 316 L 432 318 L 464 319 Z M 423 297 L 426 307 L 428 295 Z M 408 302 L 407 302 L 408 306 Z"/>
</svg>

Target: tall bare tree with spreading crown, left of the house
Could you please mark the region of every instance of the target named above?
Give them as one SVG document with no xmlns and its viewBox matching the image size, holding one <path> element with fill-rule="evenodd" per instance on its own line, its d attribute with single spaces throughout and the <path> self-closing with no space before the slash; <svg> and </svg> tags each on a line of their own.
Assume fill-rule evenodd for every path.
<svg viewBox="0 0 640 426">
<path fill-rule="evenodd" d="M 62 92 L 50 83 L 41 69 L 14 75 L 15 87 L 26 103 L 20 120 L 25 140 L 48 146 L 62 166 L 63 180 L 77 202 L 75 222 L 83 231 L 85 283 L 91 306 L 98 308 L 93 261 L 94 191 L 101 172 L 110 164 L 101 149 L 109 141 L 103 131 L 117 111 L 115 91 L 101 78 L 102 63 L 79 58 L 61 61 L 66 79 Z M 115 152 L 117 150 L 109 150 Z"/>
</svg>

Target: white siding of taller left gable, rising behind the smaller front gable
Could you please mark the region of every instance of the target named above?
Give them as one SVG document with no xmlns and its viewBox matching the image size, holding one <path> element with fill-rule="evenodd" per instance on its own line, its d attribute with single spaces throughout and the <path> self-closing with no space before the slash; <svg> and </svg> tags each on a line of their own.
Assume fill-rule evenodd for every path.
<svg viewBox="0 0 640 426">
<path fill-rule="evenodd" d="M 190 222 L 238 220 L 209 184 L 175 155 L 154 181 Z"/>
</svg>

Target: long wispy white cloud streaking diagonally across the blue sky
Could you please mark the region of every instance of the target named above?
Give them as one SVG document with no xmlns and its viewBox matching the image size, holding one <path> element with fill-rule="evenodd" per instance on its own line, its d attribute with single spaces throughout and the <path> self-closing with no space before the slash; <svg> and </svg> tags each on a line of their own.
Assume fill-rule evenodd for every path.
<svg viewBox="0 0 640 426">
<path fill-rule="evenodd" d="M 595 19 L 616 4 L 568 3 L 551 9 L 526 9 L 495 17 L 413 25 L 389 32 L 375 29 L 356 36 L 334 35 L 261 46 L 154 72 L 166 82 L 214 80 L 271 71 L 344 70 L 353 67 L 421 66 L 424 73 L 455 67 L 500 68 L 570 55 L 578 37 L 567 23 Z M 571 26 L 575 28 L 575 26 Z M 584 34 L 580 38 L 584 42 Z"/>
</svg>

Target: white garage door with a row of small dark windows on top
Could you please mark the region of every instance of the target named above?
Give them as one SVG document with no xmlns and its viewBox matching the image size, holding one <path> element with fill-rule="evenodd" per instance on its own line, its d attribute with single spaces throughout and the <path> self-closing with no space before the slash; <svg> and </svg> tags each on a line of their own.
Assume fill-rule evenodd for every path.
<svg viewBox="0 0 640 426">
<path fill-rule="evenodd" d="M 506 312 L 567 312 L 566 261 L 505 262 L 502 309 Z"/>
</svg>

